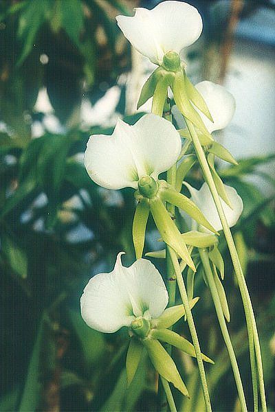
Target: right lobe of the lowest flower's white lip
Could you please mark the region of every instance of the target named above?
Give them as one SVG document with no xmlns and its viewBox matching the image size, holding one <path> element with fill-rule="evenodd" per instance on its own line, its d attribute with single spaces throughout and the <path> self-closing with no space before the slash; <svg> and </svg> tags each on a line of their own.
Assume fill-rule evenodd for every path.
<svg viewBox="0 0 275 412">
<path fill-rule="evenodd" d="M 138 259 L 126 271 L 126 287 L 135 306 L 141 309 L 141 314 L 159 317 L 168 304 L 168 293 L 157 268 L 149 260 Z"/>
</svg>

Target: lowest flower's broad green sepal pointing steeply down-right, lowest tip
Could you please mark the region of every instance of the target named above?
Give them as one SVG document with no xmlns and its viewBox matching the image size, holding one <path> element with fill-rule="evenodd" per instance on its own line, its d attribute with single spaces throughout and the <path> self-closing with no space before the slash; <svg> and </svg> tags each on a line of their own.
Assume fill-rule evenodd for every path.
<svg viewBox="0 0 275 412">
<path fill-rule="evenodd" d="M 179 375 L 175 362 L 166 352 L 161 343 L 155 339 L 144 339 L 143 344 L 146 347 L 148 356 L 159 375 L 168 380 L 168 382 L 173 383 L 173 385 L 179 389 L 184 396 L 189 397 L 188 390 Z"/>
</svg>

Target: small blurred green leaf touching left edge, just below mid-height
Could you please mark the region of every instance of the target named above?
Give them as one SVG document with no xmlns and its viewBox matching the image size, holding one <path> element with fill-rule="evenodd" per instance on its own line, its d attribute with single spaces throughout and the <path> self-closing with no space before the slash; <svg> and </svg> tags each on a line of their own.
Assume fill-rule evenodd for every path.
<svg viewBox="0 0 275 412">
<path fill-rule="evenodd" d="M 28 275 L 28 259 L 25 251 L 8 235 L 1 238 L 1 246 L 12 271 L 25 279 Z"/>
</svg>

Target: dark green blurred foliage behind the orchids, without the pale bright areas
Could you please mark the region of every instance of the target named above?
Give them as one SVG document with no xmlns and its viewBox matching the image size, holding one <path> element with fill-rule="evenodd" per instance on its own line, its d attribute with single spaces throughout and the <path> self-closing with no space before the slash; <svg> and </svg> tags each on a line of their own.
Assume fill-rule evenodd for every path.
<svg viewBox="0 0 275 412">
<path fill-rule="evenodd" d="M 132 191 L 99 188 L 78 160 L 91 133 L 112 131 L 100 124 L 83 127 L 80 104 L 83 96 L 95 104 L 121 73 L 131 69 L 129 45 L 114 20 L 118 13 L 129 13 L 129 3 L 137 4 L 116 0 L 0 3 L 1 411 L 159 408 L 157 380 L 148 359 L 142 359 L 131 387 L 125 389 L 126 330 L 100 334 L 85 325 L 79 312 L 79 297 L 91 275 L 111 270 L 118 251 L 126 251 L 127 263 L 133 261 Z M 206 8 L 215 2 L 200 3 Z M 219 45 L 221 31 L 211 27 L 207 41 Z M 51 133 L 44 124 L 43 135 L 32 139 L 35 122 L 43 124 L 45 117 L 34 107 L 41 87 L 47 88 L 61 133 Z M 125 87 L 120 88 L 115 110 L 124 116 Z M 134 123 L 141 115 L 125 117 L 126 122 Z M 259 321 L 268 401 L 275 408 L 274 197 L 266 198 L 251 179 L 245 179 L 272 159 L 274 155 L 242 159 L 238 167 L 220 168 L 220 172 L 244 201 L 234 238 Z M 274 185 L 270 177 L 265 178 Z M 198 168 L 188 181 L 201 185 Z M 152 221 L 149 229 L 146 251 L 161 248 Z M 243 310 L 225 242 L 223 255 L 230 332 L 249 393 Z M 164 273 L 162 262 L 154 263 Z M 214 410 L 238 410 L 230 363 L 199 272 L 195 295 L 201 297 L 194 314 L 202 349 L 216 361 L 208 367 Z M 184 323 L 179 323 L 178 331 L 188 336 Z M 177 352 L 174 355 L 192 398 L 184 400 L 184 410 L 200 410 L 195 364 Z"/>
</svg>

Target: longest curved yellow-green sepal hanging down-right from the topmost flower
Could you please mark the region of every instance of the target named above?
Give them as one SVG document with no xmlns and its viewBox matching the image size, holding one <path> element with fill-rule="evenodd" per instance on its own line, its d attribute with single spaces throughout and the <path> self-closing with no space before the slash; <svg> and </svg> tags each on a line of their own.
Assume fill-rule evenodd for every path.
<svg viewBox="0 0 275 412">
<path fill-rule="evenodd" d="M 179 108 L 179 111 L 186 117 L 186 119 L 190 120 L 192 124 L 194 124 L 203 135 L 208 136 L 211 140 L 212 137 L 208 132 L 205 124 L 201 120 L 199 113 L 197 113 L 196 109 L 192 106 L 188 99 L 188 93 L 186 91 L 186 84 L 184 80 L 184 73 L 182 71 L 178 71 L 175 73 L 175 78 L 173 82 L 173 94 L 175 104 Z"/>
</svg>

